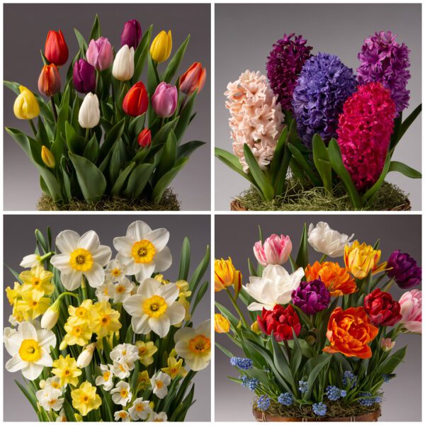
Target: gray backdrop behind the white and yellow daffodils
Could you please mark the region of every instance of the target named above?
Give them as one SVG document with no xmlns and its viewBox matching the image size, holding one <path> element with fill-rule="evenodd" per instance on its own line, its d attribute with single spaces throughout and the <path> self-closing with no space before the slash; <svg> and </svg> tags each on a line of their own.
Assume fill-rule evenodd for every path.
<svg viewBox="0 0 425 425">
<path fill-rule="evenodd" d="M 113 258 L 116 251 L 113 248 L 113 238 L 125 235 L 128 225 L 135 220 L 143 220 L 152 227 L 166 227 L 170 232 L 168 246 L 173 256 L 173 264 L 164 274 L 170 280 L 176 279 L 179 273 L 179 261 L 181 244 L 184 237 L 191 242 L 191 269 L 189 276 L 195 270 L 198 263 L 203 259 L 206 246 L 210 244 L 210 216 L 209 215 L 6 215 L 4 216 L 4 263 L 20 270 L 19 263 L 26 254 L 34 252 L 34 230 L 40 229 L 45 233 L 47 226 L 52 228 L 52 237 L 64 229 L 72 229 L 79 234 L 87 230 L 95 230 L 101 240 L 101 244 L 111 246 Z M 205 273 L 204 280 L 210 280 L 210 268 Z M 4 288 L 8 285 L 13 287 L 13 276 L 4 268 Z M 8 317 L 11 314 L 11 306 L 4 296 L 4 325 L 8 326 Z M 203 300 L 198 305 L 194 314 L 195 324 L 199 324 L 210 318 L 210 293 L 207 291 Z M 4 358 L 10 356 L 4 350 Z M 6 361 L 6 360 L 5 360 Z M 4 369 L 4 409 L 5 421 L 37 421 L 33 408 L 21 393 L 14 379 L 22 381 L 21 373 L 8 373 Z M 196 403 L 189 409 L 187 421 L 210 420 L 210 366 L 201 370 L 194 379 L 196 383 Z"/>
</svg>

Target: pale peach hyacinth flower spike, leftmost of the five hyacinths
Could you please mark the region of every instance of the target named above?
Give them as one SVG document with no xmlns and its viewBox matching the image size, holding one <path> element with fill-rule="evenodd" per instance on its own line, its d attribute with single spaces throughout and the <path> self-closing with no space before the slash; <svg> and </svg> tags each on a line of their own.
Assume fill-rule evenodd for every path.
<svg viewBox="0 0 425 425">
<path fill-rule="evenodd" d="M 244 145 L 248 145 L 261 169 L 273 158 L 278 137 L 283 128 L 283 113 L 260 72 L 246 70 L 239 79 L 227 84 L 226 108 L 229 109 L 229 127 L 232 130 L 233 152 L 248 172 Z"/>
</svg>

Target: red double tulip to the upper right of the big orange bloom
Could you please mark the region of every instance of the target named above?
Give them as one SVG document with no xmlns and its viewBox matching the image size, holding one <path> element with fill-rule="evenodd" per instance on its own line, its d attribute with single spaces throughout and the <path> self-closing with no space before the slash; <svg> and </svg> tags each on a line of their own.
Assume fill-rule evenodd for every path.
<svg viewBox="0 0 425 425">
<path fill-rule="evenodd" d="M 379 288 L 365 296 L 364 307 L 370 322 L 375 325 L 393 326 L 402 318 L 399 302 Z"/>
</svg>

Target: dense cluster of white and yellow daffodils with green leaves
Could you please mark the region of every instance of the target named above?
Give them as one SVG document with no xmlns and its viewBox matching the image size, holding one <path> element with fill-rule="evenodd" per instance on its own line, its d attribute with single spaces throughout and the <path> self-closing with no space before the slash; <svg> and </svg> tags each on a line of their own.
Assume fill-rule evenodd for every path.
<svg viewBox="0 0 425 425">
<path fill-rule="evenodd" d="M 210 363 L 210 320 L 192 315 L 208 282 L 209 249 L 191 278 L 186 238 L 176 283 L 169 232 L 133 222 L 113 241 L 111 259 L 93 230 L 35 231 L 6 288 L 13 306 L 4 345 L 8 372 L 40 421 L 183 421 L 194 402 L 193 377 Z"/>
</svg>

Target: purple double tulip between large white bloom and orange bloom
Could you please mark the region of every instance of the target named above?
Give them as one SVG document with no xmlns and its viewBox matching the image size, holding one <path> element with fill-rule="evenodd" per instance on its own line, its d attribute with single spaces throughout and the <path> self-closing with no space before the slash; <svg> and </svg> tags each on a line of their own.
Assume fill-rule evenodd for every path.
<svg viewBox="0 0 425 425">
<path fill-rule="evenodd" d="M 331 294 L 322 280 L 317 279 L 301 282 L 300 286 L 293 291 L 292 300 L 293 304 L 300 307 L 305 314 L 315 314 L 329 305 Z"/>
</svg>

